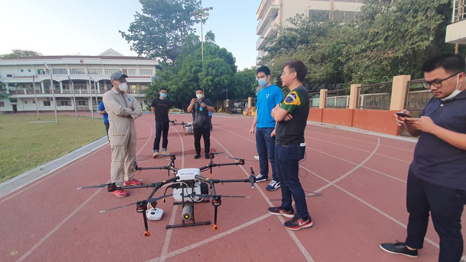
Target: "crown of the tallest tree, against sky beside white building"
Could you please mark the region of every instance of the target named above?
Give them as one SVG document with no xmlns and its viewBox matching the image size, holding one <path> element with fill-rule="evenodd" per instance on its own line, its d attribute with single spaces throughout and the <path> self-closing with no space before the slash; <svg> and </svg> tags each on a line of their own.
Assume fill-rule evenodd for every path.
<svg viewBox="0 0 466 262">
<path fill-rule="evenodd" d="M 168 49 L 183 47 L 193 25 L 199 18 L 191 12 L 200 9 L 200 0 L 139 0 L 142 13 L 136 12 L 128 33 L 118 31 L 133 42 L 131 49 L 138 55 L 168 61 Z M 192 38 L 191 38 L 192 40 Z"/>
</svg>

